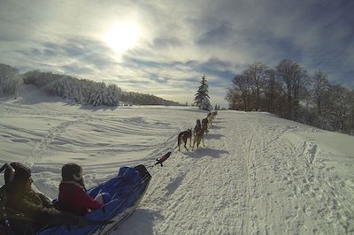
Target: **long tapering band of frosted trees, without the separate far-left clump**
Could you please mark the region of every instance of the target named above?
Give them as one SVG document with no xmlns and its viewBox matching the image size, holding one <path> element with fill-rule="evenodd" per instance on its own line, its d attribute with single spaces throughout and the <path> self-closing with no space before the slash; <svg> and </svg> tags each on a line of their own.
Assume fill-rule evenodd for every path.
<svg viewBox="0 0 354 235">
<path fill-rule="evenodd" d="M 178 102 L 167 101 L 155 95 L 123 92 L 116 85 L 106 86 L 104 82 L 79 80 L 63 74 L 32 71 L 26 72 L 23 76 L 26 84 L 40 87 L 42 91 L 49 95 L 58 95 L 81 104 L 118 106 L 119 102 L 127 102 L 132 104 L 181 105 Z"/>
</svg>

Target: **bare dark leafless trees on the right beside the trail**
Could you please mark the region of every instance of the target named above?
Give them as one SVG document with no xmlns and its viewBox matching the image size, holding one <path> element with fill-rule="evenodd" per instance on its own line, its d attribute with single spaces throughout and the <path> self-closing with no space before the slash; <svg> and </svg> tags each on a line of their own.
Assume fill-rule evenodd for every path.
<svg viewBox="0 0 354 235">
<path fill-rule="evenodd" d="M 255 62 L 232 79 L 231 110 L 262 110 L 329 131 L 354 134 L 354 90 L 332 85 L 325 72 L 309 74 L 295 61 Z"/>
</svg>

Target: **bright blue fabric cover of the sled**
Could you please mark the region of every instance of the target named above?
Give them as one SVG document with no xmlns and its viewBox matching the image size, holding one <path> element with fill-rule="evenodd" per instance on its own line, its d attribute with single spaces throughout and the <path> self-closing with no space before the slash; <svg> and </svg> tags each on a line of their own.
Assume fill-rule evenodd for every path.
<svg viewBox="0 0 354 235">
<path fill-rule="evenodd" d="M 103 208 L 90 212 L 85 217 L 89 220 L 112 220 L 126 208 L 135 206 L 142 193 L 145 192 L 149 180 L 142 180 L 141 174 L 134 168 L 122 167 L 119 174 L 101 185 L 88 190 L 88 194 L 95 198 L 98 193 L 103 193 L 104 198 L 111 200 Z M 77 226 L 58 226 L 40 231 L 38 235 L 52 234 L 90 234 L 102 230 L 104 225 L 92 225 L 79 228 Z"/>
</svg>

